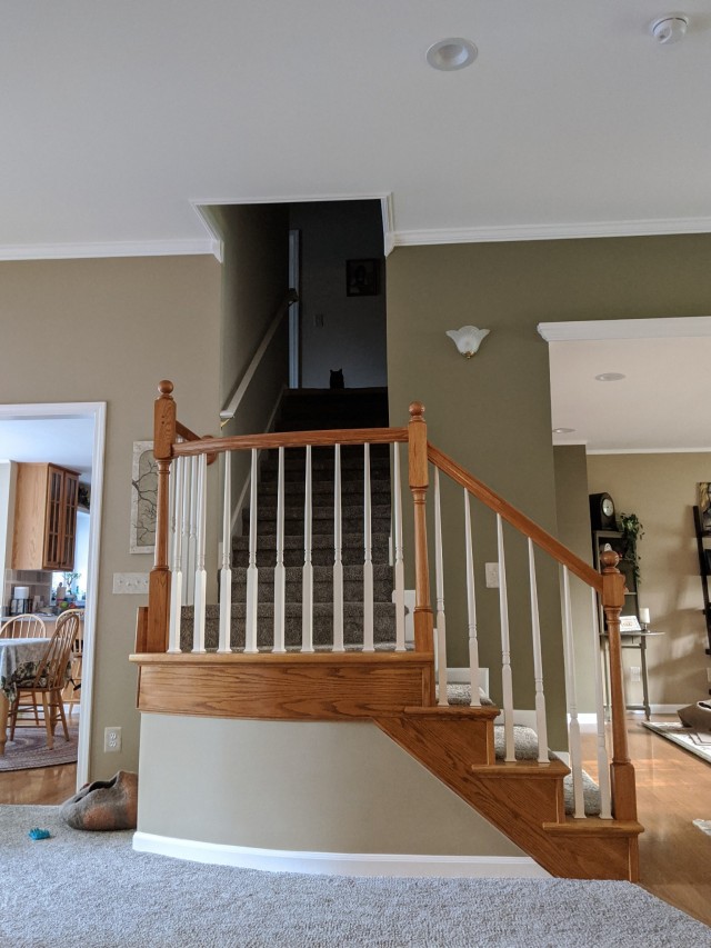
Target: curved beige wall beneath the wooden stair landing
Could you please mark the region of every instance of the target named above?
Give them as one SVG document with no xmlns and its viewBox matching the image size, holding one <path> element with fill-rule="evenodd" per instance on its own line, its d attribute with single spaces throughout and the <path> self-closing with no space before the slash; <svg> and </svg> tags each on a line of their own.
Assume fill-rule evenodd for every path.
<svg viewBox="0 0 711 948">
<path fill-rule="evenodd" d="M 524 856 L 365 721 L 144 715 L 138 828 L 277 850 Z"/>
</svg>

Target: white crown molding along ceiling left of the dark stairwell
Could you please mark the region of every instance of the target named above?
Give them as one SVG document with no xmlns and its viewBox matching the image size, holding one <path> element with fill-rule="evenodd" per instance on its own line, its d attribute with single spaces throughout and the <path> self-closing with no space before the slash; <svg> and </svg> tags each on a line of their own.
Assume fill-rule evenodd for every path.
<svg viewBox="0 0 711 948">
<path fill-rule="evenodd" d="M 197 240 L 127 240 L 107 243 L 0 245 L 0 261 L 79 260 L 100 257 L 218 256 L 211 238 Z"/>
</svg>

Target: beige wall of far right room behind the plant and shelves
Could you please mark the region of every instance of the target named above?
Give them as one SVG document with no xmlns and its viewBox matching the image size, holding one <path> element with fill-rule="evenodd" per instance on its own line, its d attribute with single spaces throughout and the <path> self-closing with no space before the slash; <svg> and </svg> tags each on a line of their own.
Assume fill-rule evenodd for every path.
<svg viewBox="0 0 711 948">
<path fill-rule="evenodd" d="M 691 407 L 690 407 L 691 408 Z M 644 527 L 639 542 L 639 603 L 650 610 L 649 690 L 653 705 L 682 707 L 708 698 L 711 659 L 703 619 L 703 596 L 692 507 L 697 485 L 711 480 L 711 453 L 591 455 L 592 493 L 607 491 L 618 512 L 637 513 Z M 641 701 L 641 686 L 630 680 L 639 651 L 623 653 L 628 701 Z"/>
</svg>

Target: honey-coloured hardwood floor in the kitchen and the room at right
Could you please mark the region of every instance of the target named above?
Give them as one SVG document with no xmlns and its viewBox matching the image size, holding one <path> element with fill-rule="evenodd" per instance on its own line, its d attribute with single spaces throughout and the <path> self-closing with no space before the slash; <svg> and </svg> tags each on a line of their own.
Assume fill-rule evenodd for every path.
<svg viewBox="0 0 711 948">
<path fill-rule="evenodd" d="M 711 836 L 693 825 L 711 819 L 711 766 L 628 715 L 630 757 L 637 774 L 641 885 L 711 925 Z M 675 720 L 674 716 L 654 720 Z M 592 728 L 583 726 L 584 768 L 597 775 Z M 0 804 L 60 804 L 76 791 L 77 765 L 0 774 Z"/>
</svg>

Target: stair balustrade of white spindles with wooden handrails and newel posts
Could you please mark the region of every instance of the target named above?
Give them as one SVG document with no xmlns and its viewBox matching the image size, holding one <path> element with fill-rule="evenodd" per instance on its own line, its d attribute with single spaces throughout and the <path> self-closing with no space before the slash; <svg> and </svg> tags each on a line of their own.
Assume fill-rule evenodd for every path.
<svg viewBox="0 0 711 948">
<path fill-rule="evenodd" d="M 410 423 L 407 428 L 356 429 L 318 432 L 268 433 L 239 436 L 232 438 L 208 439 L 199 438 L 176 420 L 176 407 L 172 399 L 172 385 L 161 382 L 160 397 L 156 403 L 154 452 L 158 461 L 158 525 L 156 541 L 156 563 L 150 577 L 150 596 L 148 616 L 141 625 L 140 646 L 143 651 L 167 651 L 174 655 L 181 650 L 181 625 L 183 607 L 193 607 L 192 652 L 200 655 L 208 648 L 220 655 L 237 652 L 246 656 L 257 656 L 261 652 L 287 655 L 291 652 L 312 653 L 324 648 L 336 653 L 360 650 L 373 652 L 389 648 L 393 652 L 404 652 L 408 647 L 425 656 L 433 655 L 437 645 L 438 661 L 438 703 L 448 703 L 448 627 L 445 610 L 445 550 L 454 549 L 448 543 L 442 520 L 442 479 L 452 481 L 458 489 L 463 489 L 463 512 L 461 516 L 461 537 L 457 539 L 457 549 L 461 551 L 463 541 L 464 583 L 461 590 L 447 586 L 448 601 L 459 599 L 462 609 L 465 605 L 465 636 L 469 656 L 472 708 L 479 708 L 479 671 L 480 648 L 482 636 L 485 637 L 488 653 L 492 651 L 492 636 L 500 638 L 500 687 L 501 711 L 504 734 L 504 761 L 515 761 L 514 718 L 515 698 L 514 681 L 517 679 L 517 662 L 522 667 L 532 667 L 530 693 L 534 696 L 535 731 L 539 738 L 538 764 L 542 767 L 549 762 L 548 734 L 549 710 L 547 709 L 544 691 L 544 662 L 541 645 L 541 618 L 539 613 L 539 590 L 537 579 L 537 555 L 552 559 L 561 573 L 562 585 L 562 642 L 561 651 L 564 660 L 564 683 L 568 716 L 568 736 L 570 766 L 573 775 L 574 816 L 584 816 L 583 774 L 580 751 L 580 724 L 578 708 L 578 689 L 574 675 L 574 649 L 585 648 L 592 655 L 591 669 L 594 678 L 595 712 L 597 712 L 597 745 L 599 765 L 599 786 L 601 792 L 601 816 L 609 819 L 612 814 L 618 819 L 635 819 L 634 776 L 627 755 L 627 737 L 624 732 L 624 710 L 621 691 L 621 665 L 619 657 L 619 615 L 623 603 L 623 578 L 617 570 L 614 555 L 603 555 L 603 573 L 595 572 L 591 567 L 567 550 L 555 538 L 539 528 L 523 513 L 508 505 L 502 498 L 482 485 L 463 470 L 451 458 L 443 455 L 428 442 L 424 409 L 418 402 L 410 406 Z M 408 551 L 411 569 L 414 576 L 414 613 L 413 645 L 405 641 L 405 566 L 407 557 L 403 547 L 403 515 L 400 443 L 408 443 L 407 478 L 412 495 L 413 509 L 413 545 Z M 392 590 L 390 606 L 390 626 L 392 636 L 387 646 L 377 643 L 375 629 L 378 626 L 375 611 L 375 582 L 382 583 L 383 562 L 378 562 L 375 551 L 381 555 L 375 545 L 373 523 L 382 521 L 382 505 L 373 502 L 373 458 L 375 446 L 390 446 L 388 469 L 390 471 L 390 491 L 387 495 L 390 509 L 390 546 L 391 569 L 390 588 Z M 346 449 L 348 453 L 344 453 Z M 352 451 L 362 450 L 362 461 L 354 458 Z M 250 483 L 247 566 L 240 572 L 246 575 L 246 591 L 241 600 L 233 595 L 233 580 L 237 575 L 232 559 L 232 477 L 231 456 L 236 451 L 250 451 Z M 273 535 L 260 536 L 260 465 L 262 451 L 276 451 L 276 522 Z M 317 455 L 318 451 L 318 455 Z M 208 465 L 223 456 L 222 462 L 222 515 L 221 521 L 221 562 L 219 570 L 219 630 L 217 642 L 207 641 L 207 510 L 208 510 Z M 322 469 L 331 470 L 330 486 L 314 485 L 314 463 L 318 457 L 320 475 Z M 298 465 L 292 461 L 298 458 Z M 383 459 L 385 455 L 383 455 Z M 300 566 L 300 582 L 293 580 L 293 542 L 296 533 L 288 530 L 293 523 L 294 508 L 290 506 L 288 485 L 298 476 L 301 459 L 303 459 L 303 532 Z M 346 460 L 347 459 L 347 460 Z M 377 456 L 375 463 L 381 461 Z M 344 467 L 348 463 L 348 468 Z M 353 515 L 351 492 L 344 500 L 344 476 L 358 476 L 360 472 L 352 465 L 362 463 L 362 511 Z M 171 477 L 172 467 L 172 477 Z M 354 473 L 356 471 L 356 473 Z M 432 476 L 433 475 L 433 476 Z M 289 479 L 288 479 L 289 477 Z M 433 557 L 430 557 L 427 536 L 427 497 L 430 479 L 433 480 Z M 170 481 L 173 481 L 172 489 Z M 299 488 L 300 490 L 300 488 Z M 332 491 L 332 492 L 331 492 Z M 242 491 L 246 495 L 246 490 Z M 328 532 L 323 535 L 323 526 L 328 525 L 330 513 L 324 517 L 324 498 L 333 498 L 332 507 L 332 556 L 328 566 L 323 566 L 323 556 L 328 553 Z M 461 496 L 461 495 L 460 495 Z M 499 620 L 498 630 L 487 628 L 482 631 L 478 625 L 478 597 L 475 575 L 480 568 L 482 553 L 478 552 L 472 522 L 480 525 L 484 515 L 479 510 L 472 521 L 471 505 L 475 502 L 485 516 L 495 521 L 495 557 L 499 566 Z M 457 503 L 459 507 L 459 502 Z M 350 517 L 357 516 L 360 522 L 362 516 L 362 540 L 359 552 L 353 547 L 352 530 L 344 532 L 344 510 L 349 509 Z M 266 511 L 261 511 L 266 513 Z M 272 515 L 274 516 L 274 515 Z M 291 519 L 290 519 L 291 518 Z M 449 520 L 448 520 L 449 522 Z M 514 530 L 523 536 L 528 553 L 528 577 L 517 586 L 528 596 L 530 608 L 530 640 L 528 631 L 521 633 L 520 623 L 512 635 L 511 609 L 509 602 L 510 581 L 507 575 L 507 545 L 504 543 L 504 525 L 507 530 Z M 331 526 L 327 526 L 330 530 Z M 479 532 L 479 530 L 478 530 Z M 267 542 L 267 539 L 269 542 Z M 348 540 L 348 543 L 347 543 Z M 513 535 L 511 541 L 513 540 Z M 300 542 L 300 540 L 299 540 Z M 330 541 L 329 541 L 330 542 Z M 451 541 L 454 542 L 454 541 Z M 507 542 L 509 537 L 507 533 Z M 266 550 L 271 549 L 273 559 L 269 567 L 263 565 Z M 318 553 L 318 559 L 314 559 Z M 346 555 L 348 553 L 348 558 Z M 448 557 L 450 553 L 448 552 Z M 358 569 L 353 569 L 353 559 L 359 559 Z M 434 609 L 430 601 L 430 562 L 434 567 L 435 598 Z M 271 605 L 264 601 L 269 590 L 269 572 L 273 577 Z M 353 613 L 348 612 L 352 603 L 353 589 L 358 588 L 358 576 L 362 578 L 359 596 L 360 635 L 353 633 Z M 321 583 L 323 577 L 332 586 L 331 595 L 324 597 Z M 378 580 L 375 580 L 378 577 Z M 590 629 L 573 628 L 571 608 L 571 581 L 583 582 L 591 590 L 592 605 Z M 448 581 L 449 582 L 449 581 Z M 316 589 L 319 586 L 319 596 Z M 290 598 L 292 590 L 300 586 L 300 608 Z M 525 592 L 528 587 L 528 593 Z M 348 598 L 346 590 L 349 590 Z M 264 595 L 262 595 L 262 592 Z M 612 705 L 612 762 L 605 746 L 604 709 L 602 700 L 602 678 L 600 673 L 600 657 L 597 635 L 597 601 L 602 602 L 609 629 L 611 652 L 611 705 Z M 362 601 L 361 601 L 362 600 Z M 289 622 L 294 619 L 297 606 L 300 612 L 301 633 L 298 642 L 288 635 Z M 520 612 L 520 609 L 519 609 Z M 331 633 L 327 643 L 323 642 L 322 628 L 319 626 L 317 636 L 317 618 L 330 616 Z M 271 635 L 266 633 L 264 622 L 271 619 Z M 517 615 L 517 622 L 520 615 Z M 234 626 L 241 622 L 240 641 L 234 645 Z M 350 625 L 349 625 L 350 623 Z M 348 633 L 347 633 L 348 630 Z M 463 639 L 464 629 L 458 632 Z M 528 642 L 528 643 L 527 643 Z M 522 645 L 523 643 L 523 645 Z M 451 643 L 450 643 L 451 645 Z M 520 650 L 528 651 L 528 658 L 522 659 Z M 520 676 L 519 676 L 520 677 Z M 424 686 L 423 706 L 435 703 L 434 679 Z M 610 776 L 611 775 L 611 776 Z"/>
</svg>

